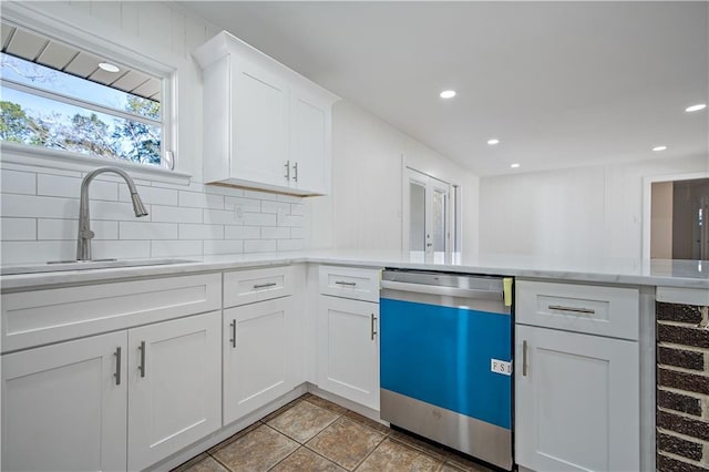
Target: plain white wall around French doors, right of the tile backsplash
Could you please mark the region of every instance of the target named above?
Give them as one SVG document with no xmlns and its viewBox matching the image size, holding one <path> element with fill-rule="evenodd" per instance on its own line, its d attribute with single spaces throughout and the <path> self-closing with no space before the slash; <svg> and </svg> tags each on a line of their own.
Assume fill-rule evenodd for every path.
<svg viewBox="0 0 709 472">
<path fill-rule="evenodd" d="M 463 253 L 474 254 L 477 177 L 346 101 L 333 107 L 332 195 L 306 199 L 311 247 L 401 250 L 402 160 L 462 187 Z"/>
</svg>

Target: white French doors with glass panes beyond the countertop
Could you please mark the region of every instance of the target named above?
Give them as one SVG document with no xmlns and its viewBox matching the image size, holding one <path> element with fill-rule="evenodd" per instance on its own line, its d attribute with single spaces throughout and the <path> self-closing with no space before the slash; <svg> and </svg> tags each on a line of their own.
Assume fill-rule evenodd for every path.
<svg viewBox="0 0 709 472">
<path fill-rule="evenodd" d="M 404 250 L 412 258 L 443 261 L 451 252 L 451 185 L 407 168 L 404 172 Z"/>
</svg>

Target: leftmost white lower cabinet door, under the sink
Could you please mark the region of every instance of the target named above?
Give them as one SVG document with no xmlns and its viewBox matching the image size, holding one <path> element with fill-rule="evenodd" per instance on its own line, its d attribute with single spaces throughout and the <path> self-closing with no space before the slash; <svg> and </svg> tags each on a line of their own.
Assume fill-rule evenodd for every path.
<svg viewBox="0 0 709 472">
<path fill-rule="evenodd" d="M 2 470 L 126 470 L 125 351 L 121 331 L 2 356 Z"/>
</svg>

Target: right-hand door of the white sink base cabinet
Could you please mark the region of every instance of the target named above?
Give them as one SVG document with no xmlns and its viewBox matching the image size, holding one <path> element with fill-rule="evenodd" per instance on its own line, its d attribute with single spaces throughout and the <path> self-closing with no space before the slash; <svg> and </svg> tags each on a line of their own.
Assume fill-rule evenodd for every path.
<svg viewBox="0 0 709 472">
<path fill-rule="evenodd" d="M 129 330 L 129 470 L 222 425 L 220 315 Z"/>
</svg>

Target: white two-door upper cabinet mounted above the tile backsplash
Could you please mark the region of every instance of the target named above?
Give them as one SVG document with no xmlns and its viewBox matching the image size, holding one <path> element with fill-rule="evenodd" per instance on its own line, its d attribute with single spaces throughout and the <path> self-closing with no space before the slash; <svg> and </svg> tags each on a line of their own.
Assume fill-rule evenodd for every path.
<svg viewBox="0 0 709 472">
<path fill-rule="evenodd" d="M 205 183 L 328 194 L 337 96 L 225 31 L 194 57 L 204 79 Z"/>
</svg>

